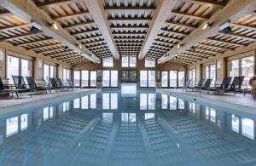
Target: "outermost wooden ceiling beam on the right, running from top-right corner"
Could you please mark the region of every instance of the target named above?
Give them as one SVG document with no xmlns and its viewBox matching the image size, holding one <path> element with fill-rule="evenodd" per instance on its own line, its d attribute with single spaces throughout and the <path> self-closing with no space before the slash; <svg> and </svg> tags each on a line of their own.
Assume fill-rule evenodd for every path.
<svg viewBox="0 0 256 166">
<path fill-rule="evenodd" d="M 179 45 L 183 44 L 183 47 L 174 47 L 165 55 L 163 55 L 158 63 L 165 63 L 176 56 L 177 53 L 183 53 L 185 50 L 195 46 L 197 43 L 206 40 L 207 37 L 212 36 L 214 33 L 219 31 L 219 25 L 223 24 L 225 21 L 230 20 L 234 22 L 241 19 L 247 14 L 252 13 L 255 10 L 256 1 L 255 0 L 232 0 L 228 3 L 224 9 L 221 9 L 218 13 L 212 14 L 209 20 L 204 21 L 195 31 L 185 37 Z M 212 26 L 208 26 L 207 29 L 202 31 L 202 27 L 211 22 Z"/>
</svg>

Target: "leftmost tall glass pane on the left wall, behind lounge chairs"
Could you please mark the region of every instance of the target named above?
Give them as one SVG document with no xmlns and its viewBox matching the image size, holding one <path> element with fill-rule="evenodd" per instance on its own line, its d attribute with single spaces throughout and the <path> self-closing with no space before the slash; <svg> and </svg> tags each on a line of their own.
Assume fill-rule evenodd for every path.
<svg viewBox="0 0 256 166">
<path fill-rule="evenodd" d="M 10 84 L 14 84 L 12 76 L 19 76 L 19 58 L 7 56 L 7 78 Z"/>
</svg>

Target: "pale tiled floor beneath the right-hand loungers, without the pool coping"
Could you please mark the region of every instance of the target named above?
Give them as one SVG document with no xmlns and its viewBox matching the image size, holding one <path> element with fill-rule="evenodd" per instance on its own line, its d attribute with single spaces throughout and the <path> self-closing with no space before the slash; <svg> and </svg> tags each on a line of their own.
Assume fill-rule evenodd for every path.
<svg viewBox="0 0 256 166">
<path fill-rule="evenodd" d="M 173 94 L 185 94 L 190 97 L 198 97 L 201 99 L 206 99 L 206 100 L 212 100 L 214 101 L 219 101 L 219 102 L 225 102 L 229 104 L 233 104 L 235 106 L 244 106 L 244 107 L 252 107 L 256 108 L 256 100 L 253 99 L 253 95 L 251 94 L 232 94 L 232 93 L 225 93 L 225 94 L 207 94 L 207 92 L 191 92 L 191 91 L 186 91 L 183 89 L 161 89 L 166 92 L 172 92 Z"/>
</svg>

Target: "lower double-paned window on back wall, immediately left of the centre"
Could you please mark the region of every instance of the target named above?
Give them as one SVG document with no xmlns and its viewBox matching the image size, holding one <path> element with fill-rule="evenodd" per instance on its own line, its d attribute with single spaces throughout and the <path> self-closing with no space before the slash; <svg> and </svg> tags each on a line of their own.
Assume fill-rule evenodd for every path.
<svg viewBox="0 0 256 166">
<path fill-rule="evenodd" d="M 103 71 L 103 87 L 118 87 L 118 71 Z"/>
</svg>

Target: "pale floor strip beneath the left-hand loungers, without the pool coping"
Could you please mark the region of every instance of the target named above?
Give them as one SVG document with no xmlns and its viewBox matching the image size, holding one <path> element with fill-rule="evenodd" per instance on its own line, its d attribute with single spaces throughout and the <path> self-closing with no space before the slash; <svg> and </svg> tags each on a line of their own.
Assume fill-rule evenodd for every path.
<svg viewBox="0 0 256 166">
<path fill-rule="evenodd" d="M 20 94 L 19 98 L 2 97 L 0 98 L 0 112 L 12 107 L 26 106 L 27 104 L 36 104 L 39 102 L 49 102 L 55 98 L 75 97 L 76 95 L 85 92 L 96 91 L 96 89 L 74 89 L 69 91 L 53 91 L 51 94 L 35 94 L 30 95 Z"/>
</svg>

